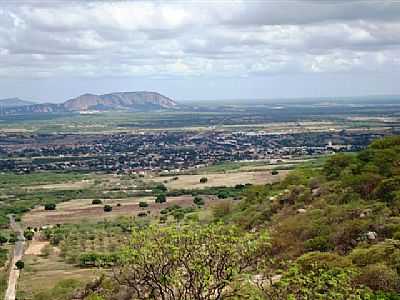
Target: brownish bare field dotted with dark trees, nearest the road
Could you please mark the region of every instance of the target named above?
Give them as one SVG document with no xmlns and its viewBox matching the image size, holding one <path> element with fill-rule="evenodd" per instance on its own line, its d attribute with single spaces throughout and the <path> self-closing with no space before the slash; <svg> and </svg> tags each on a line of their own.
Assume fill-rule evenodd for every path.
<svg viewBox="0 0 400 300">
<path fill-rule="evenodd" d="M 139 207 L 139 202 L 148 202 L 149 206 Z M 207 202 L 207 199 L 206 199 Z M 104 212 L 103 206 L 111 205 L 111 212 Z M 120 204 L 120 206 L 117 206 Z M 150 215 L 157 215 L 158 212 L 170 205 L 178 204 L 182 207 L 193 205 L 192 196 L 168 197 L 166 203 L 155 203 L 154 197 L 133 197 L 126 199 L 107 199 L 103 204 L 92 205 L 92 199 L 71 200 L 57 205 L 55 211 L 45 211 L 44 208 L 37 207 L 25 214 L 22 222 L 25 226 L 37 227 L 44 225 L 55 225 L 65 223 L 79 223 L 82 221 L 102 221 L 104 219 L 114 219 L 120 216 L 136 216 L 139 212 L 150 211 Z"/>
</svg>

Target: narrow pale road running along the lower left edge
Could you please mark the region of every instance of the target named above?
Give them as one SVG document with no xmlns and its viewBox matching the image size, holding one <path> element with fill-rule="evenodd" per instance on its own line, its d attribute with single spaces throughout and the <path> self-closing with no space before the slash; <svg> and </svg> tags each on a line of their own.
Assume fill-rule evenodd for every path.
<svg viewBox="0 0 400 300">
<path fill-rule="evenodd" d="M 15 292 L 17 287 L 17 281 L 19 277 L 19 270 L 15 267 L 15 263 L 18 260 L 22 259 L 24 255 L 24 231 L 21 226 L 15 222 L 14 216 L 9 216 L 10 218 L 10 227 L 17 235 L 17 241 L 15 242 L 14 254 L 11 259 L 10 264 L 10 274 L 8 277 L 8 286 L 5 294 L 5 300 L 15 300 Z"/>
</svg>

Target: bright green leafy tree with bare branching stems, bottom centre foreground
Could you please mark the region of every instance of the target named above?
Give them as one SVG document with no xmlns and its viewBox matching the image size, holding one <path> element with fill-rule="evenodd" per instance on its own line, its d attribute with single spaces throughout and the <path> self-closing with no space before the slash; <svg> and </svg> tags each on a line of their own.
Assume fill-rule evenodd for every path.
<svg viewBox="0 0 400 300">
<path fill-rule="evenodd" d="M 135 299 L 240 297 L 233 283 L 268 258 L 268 240 L 266 234 L 221 224 L 134 229 L 111 293 L 120 287 Z"/>
</svg>

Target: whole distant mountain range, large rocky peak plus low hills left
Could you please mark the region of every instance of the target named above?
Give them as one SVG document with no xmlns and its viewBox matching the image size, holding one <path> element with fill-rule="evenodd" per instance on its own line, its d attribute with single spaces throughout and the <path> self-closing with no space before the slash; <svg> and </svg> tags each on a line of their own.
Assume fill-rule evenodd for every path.
<svg viewBox="0 0 400 300">
<path fill-rule="evenodd" d="M 104 95 L 84 94 L 60 104 L 35 104 L 19 98 L 0 100 L 2 113 L 5 114 L 76 112 L 92 110 L 147 111 L 170 109 L 176 106 L 177 103 L 174 100 L 156 92 L 146 91 L 119 92 Z"/>
</svg>

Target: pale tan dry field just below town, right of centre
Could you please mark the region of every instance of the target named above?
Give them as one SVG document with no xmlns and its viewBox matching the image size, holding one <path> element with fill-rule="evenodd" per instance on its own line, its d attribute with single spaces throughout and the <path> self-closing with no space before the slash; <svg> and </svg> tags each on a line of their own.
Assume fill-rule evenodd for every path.
<svg viewBox="0 0 400 300">
<path fill-rule="evenodd" d="M 271 171 L 259 172 L 232 172 L 232 173 L 215 173 L 207 175 L 179 175 L 174 180 L 171 177 L 154 177 L 152 180 L 157 182 L 165 182 L 169 189 L 201 189 L 212 186 L 235 186 L 237 184 L 266 184 L 282 180 L 289 171 L 279 171 L 278 175 L 271 175 Z M 202 177 L 207 177 L 206 183 L 200 183 Z"/>
</svg>

